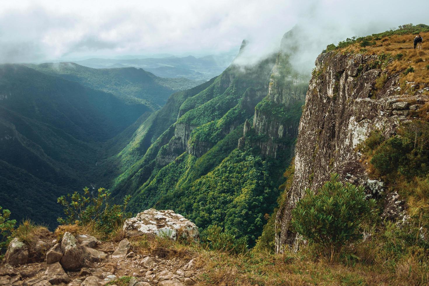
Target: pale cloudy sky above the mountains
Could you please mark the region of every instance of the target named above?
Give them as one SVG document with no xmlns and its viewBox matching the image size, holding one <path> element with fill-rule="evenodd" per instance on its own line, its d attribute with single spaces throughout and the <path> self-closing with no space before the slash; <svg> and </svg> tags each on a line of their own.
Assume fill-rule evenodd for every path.
<svg viewBox="0 0 429 286">
<path fill-rule="evenodd" d="M 429 24 L 428 0 L 0 0 L 0 63 L 127 54 L 211 54 L 238 49 L 248 57 L 278 47 L 293 25 L 302 43 L 331 42 Z"/>
</svg>

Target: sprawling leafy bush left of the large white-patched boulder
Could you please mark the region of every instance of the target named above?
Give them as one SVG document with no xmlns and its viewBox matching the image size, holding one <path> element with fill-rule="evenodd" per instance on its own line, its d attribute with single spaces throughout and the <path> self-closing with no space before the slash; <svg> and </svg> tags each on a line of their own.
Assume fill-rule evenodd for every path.
<svg viewBox="0 0 429 286">
<path fill-rule="evenodd" d="M 125 196 L 123 205 L 112 205 L 110 192 L 105 188 L 99 188 L 93 194 L 85 187 L 84 194 L 78 192 L 58 198 L 58 203 L 64 207 L 66 218 L 58 218 L 61 224 L 77 224 L 80 226 L 93 225 L 97 230 L 108 234 L 116 226 L 122 224 L 125 219 L 131 217 L 125 211 L 131 196 Z M 69 202 L 69 200 L 70 202 Z"/>
</svg>

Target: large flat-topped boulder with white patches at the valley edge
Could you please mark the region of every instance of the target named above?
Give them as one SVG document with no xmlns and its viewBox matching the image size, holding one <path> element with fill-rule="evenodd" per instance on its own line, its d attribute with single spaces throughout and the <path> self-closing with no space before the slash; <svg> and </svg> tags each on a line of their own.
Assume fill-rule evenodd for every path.
<svg viewBox="0 0 429 286">
<path fill-rule="evenodd" d="M 172 210 L 157 211 L 150 208 L 127 219 L 123 227 L 127 237 L 137 235 L 157 235 L 176 240 L 182 238 L 199 238 L 198 227 L 195 223 L 176 214 Z"/>
</svg>

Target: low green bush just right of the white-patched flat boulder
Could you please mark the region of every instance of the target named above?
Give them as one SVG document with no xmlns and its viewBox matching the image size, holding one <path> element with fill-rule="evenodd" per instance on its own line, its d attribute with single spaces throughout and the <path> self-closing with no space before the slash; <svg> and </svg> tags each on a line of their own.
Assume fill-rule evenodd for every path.
<svg viewBox="0 0 429 286">
<path fill-rule="evenodd" d="M 248 250 L 245 237 L 236 238 L 227 232 L 222 232 L 220 226 L 209 226 L 202 235 L 202 244 L 207 249 L 227 253 L 245 253 Z"/>
</svg>

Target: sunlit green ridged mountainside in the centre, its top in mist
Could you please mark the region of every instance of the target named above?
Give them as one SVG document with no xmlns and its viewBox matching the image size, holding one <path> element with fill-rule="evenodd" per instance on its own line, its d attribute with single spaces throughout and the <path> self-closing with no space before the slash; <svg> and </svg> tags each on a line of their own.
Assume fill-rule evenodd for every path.
<svg viewBox="0 0 429 286">
<path fill-rule="evenodd" d="M 253 66 L 233 63 L 173 95 L 121 153 L 135 155 L 116 179 L 115 195 L 132 195 L 130 211 L 171 208 L 202 229 L 217 224 L 254 244 L 276 205 L 308 86 L 291 56 L 289 50 Z M 164 131 L 154 131 L 167 109 Z"/>
</svg>

